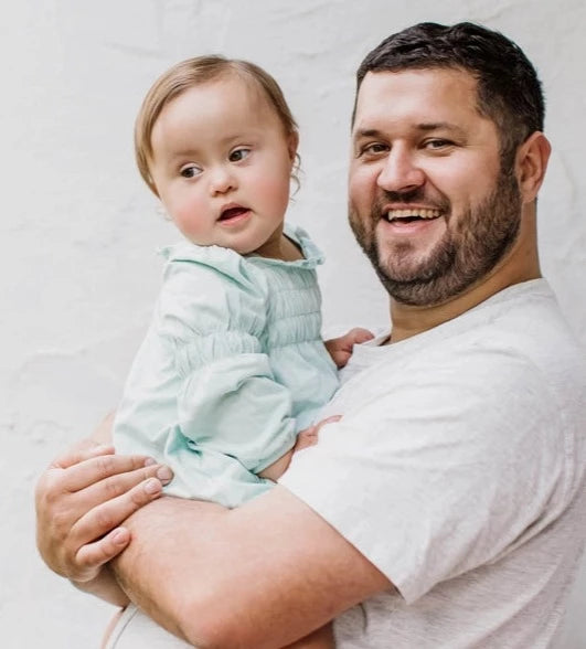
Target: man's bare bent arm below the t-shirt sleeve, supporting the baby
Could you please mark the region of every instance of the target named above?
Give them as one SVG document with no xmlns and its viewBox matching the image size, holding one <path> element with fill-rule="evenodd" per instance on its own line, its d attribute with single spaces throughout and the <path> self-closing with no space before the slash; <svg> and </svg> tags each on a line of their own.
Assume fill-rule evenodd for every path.
<svg viewBox="0 0 586 649">
<path fill-rule="evenodd" d="M 284 488 L 236 510 L 163 498 L 128 520 L 129 597 L 198 647 L 284 647 L 391 587 Z"/>
</svg>

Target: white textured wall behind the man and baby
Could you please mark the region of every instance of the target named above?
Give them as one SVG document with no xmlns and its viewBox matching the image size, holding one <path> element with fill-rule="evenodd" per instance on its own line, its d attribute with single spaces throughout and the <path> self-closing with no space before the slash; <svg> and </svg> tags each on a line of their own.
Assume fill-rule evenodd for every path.
<svg viewBox="0 0 586 649">
<path fill-rule="evenodd" d="M 49 460 L 111 408 L 157 292 L 172 228 L 135 172 L 139 102 L 170 64 L 222 52 L 280 81 L 301 127 L 294 216 L 330 258 L 329 326 L 384 320 L 345 224 L 353 72 L 420 20 L 501 29 L 534 61 L 554 155 L 540 199 L 546 276 L 586 343 L 584 0 L 0 0 L 0 646 L 97 647 L 107 605 L 34 549 L 32 490 Z M 586 647 L 586 575 L 567 647 Z"/>
</svg>

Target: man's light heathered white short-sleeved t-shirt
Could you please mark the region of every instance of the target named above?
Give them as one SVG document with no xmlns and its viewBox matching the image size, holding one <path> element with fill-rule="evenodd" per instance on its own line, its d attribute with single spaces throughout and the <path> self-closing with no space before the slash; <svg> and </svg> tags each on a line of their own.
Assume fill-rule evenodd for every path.
<svg viewBox="0 0 586 649">
<path fill-rule="evenodd" d="M 339 648 L 556 647 L 586 538 L 586 365 L 545 280 L 355 350 L 280 482 L 398 592 Z"/>
</svg>

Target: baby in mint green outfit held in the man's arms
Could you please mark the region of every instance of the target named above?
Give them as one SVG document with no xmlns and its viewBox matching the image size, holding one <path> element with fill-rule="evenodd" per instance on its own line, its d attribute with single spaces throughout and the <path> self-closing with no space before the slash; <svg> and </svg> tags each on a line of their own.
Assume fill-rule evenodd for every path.
<svg viewBox="0 0 586 649">
<path fill-rule="evenodd" d="M 147 94 L 135 145 L 188 241 L 162 251 L 116 450 L 170 465 L 169 494 L 234 508 L 283 474 L 338 386 L 337 364 L 371 334 L 320 339 L 322 258 L 284 224 L 298 131 L 270 75 L 221 56 L 174 65 Z"/>
</svg>

